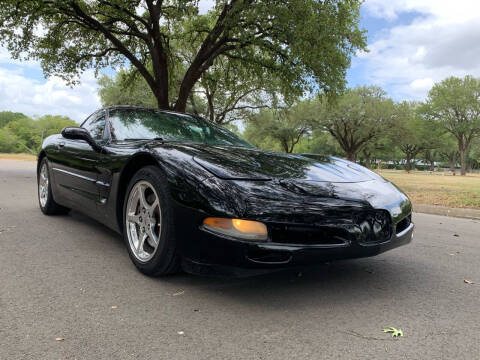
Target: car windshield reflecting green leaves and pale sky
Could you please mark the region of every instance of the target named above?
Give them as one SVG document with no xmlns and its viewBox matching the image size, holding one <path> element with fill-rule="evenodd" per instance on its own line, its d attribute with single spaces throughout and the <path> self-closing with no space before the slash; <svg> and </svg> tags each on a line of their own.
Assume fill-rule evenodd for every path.
<svg viewBox="0 0 480 360">
<path fill-rule="evenodd" d="M 110 110 L 114 141 L 150 140 L 253 147 L 233 132 L 199 117 L 154 109 Z"/>
</svg>

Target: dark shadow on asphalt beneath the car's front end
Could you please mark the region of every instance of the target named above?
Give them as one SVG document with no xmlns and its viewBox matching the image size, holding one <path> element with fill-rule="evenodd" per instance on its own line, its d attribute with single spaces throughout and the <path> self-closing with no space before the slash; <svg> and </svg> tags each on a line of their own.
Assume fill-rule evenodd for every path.
<svg viewBox="0 0 480 360">
<path fill-rule="evenodd" d="M 215 301 L 228 299 L 264 310 L 278 310 L 405 300 L 420 289 L 421 285 L 416 284 L 431 284 L 432 279 L 424 266 L 402 263 L 392 254 L 388 259 L 337 261 L 242 279 L 181 274 L 156 281 Z"/>
</svg>

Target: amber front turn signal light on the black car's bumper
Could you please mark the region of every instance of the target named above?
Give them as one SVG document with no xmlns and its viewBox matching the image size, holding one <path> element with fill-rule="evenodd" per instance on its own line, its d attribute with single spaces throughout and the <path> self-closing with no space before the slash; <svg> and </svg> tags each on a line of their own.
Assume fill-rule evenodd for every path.
<svg viewBox="0 0 480 360">
<path fill-rule="evenodd" d="M 242 219 L 206 218 L 203 227 L 214 233 L 246 240 L 267 240 L 264 223 Z"/>
</svg>

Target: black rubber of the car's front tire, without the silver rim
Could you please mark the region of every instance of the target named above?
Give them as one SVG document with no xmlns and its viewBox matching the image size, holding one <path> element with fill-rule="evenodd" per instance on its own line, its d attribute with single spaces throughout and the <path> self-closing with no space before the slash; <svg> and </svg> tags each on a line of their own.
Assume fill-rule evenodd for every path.
<svg viewBox="0 0 480 360">
<path fill-rule="evenodd" d="M 146 262 L 140 261 L 133 254 L 133 251 L 130 248 L 130 242 L 128 241 L 127 234 L 128 230 L 126 222 L 126 212 L 128 199 L 130 197 L 130 193 L 133 187 L 139 181 L 147 181 L 154 187 L 158 196 L 160 210 L 162 213 L 162 227 L 159 234 L 160 236 L 158 247 L 153 257 Z M 162 174 L 161 170 L 158 167 L 146 166 L 140 169 L 130 180 L 123 201 L 122 216 L 123 238 L 127 246 L 130 259 L 133 261 L 135 266 L 141 272 L 147 275 L 156 275 L 166 272 L 166 269 L 168 268 L 171 259 L 176 256 L 176 244 L 173 231 L 173 210 L 171 205 L 170 193 L 168 191 L 168 183 L 165 176 Z"/>
</svg>

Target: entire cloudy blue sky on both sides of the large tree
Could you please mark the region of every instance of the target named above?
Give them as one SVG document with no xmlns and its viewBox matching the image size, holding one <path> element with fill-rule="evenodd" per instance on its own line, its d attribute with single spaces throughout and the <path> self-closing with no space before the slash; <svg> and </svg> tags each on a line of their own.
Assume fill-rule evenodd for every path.
<svg viewBox="0 0 480 360">
<path fill-rule="evenodd" d="M 213 0 L 200 0 L 200 11 Z M 448 76 L 480 77 L 479 0 L 366 0 L 361 27 L 368 52 L 357 52 L 348 86 L 378 85 L 394 100 L 423 100 Z M 0 111 L 59 114 L 82 121 L 101 107 L 93 71 L 73 88 L 45 79 L 36 61 L 12 60 L 0 47 Z"/>
</svg>

